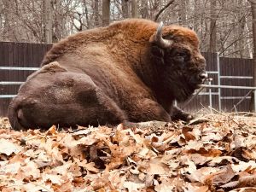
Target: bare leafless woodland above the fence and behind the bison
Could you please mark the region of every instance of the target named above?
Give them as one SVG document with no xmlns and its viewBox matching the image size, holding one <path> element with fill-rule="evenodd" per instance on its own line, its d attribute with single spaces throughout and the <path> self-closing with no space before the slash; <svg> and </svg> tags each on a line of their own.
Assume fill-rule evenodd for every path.
<svg viewBox="0 0 256 192">
<path fill-rule="evenodd" d="M 0 41 L 49 44 L 75 32 L 104 26 L 102 8 L 106 2 L 109 3 L 108 0 L 1 0 Z M 111 0 L 110 22 L 139 17 L 162 20 L 166 25 L 189 26 L 201 38 L 201 51 L 252 58 L 251 2 Z M 136 13 L 131 11 L 134 5 Z"/>
</svg>

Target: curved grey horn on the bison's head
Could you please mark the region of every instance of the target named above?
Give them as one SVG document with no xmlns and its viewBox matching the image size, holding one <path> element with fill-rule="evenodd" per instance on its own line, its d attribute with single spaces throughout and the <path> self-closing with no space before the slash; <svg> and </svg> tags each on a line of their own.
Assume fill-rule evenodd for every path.
<svg viewBox="0 0 256 192">
<path fill-rule="evenodd" d="M 172 40 L 164 39 L 162 37 L 162 28 L 164 24 L 163 21 L 160 22 L 159 26 L 157 27 L 156 32 L 152 35 L 149 39 L 150 43 L 157 44 L 160 48 L 166 49 L 172 46 Z"/>
</svg>

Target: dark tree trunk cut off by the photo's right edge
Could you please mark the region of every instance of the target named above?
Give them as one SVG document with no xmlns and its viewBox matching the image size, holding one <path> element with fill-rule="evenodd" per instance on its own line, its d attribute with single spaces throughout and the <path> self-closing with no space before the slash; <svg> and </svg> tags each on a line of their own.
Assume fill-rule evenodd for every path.
<svg viewBox="0 0 256 192">
<path fill-rule="evenodd" d="M 253 15 L 253 86 L 256 87 L 256 0 L 249 0 L 252 8 Z M 253 91 L 251 97 L 251 111 L 255 111 L 255 95 L 256 90 Z"/>
</svg>

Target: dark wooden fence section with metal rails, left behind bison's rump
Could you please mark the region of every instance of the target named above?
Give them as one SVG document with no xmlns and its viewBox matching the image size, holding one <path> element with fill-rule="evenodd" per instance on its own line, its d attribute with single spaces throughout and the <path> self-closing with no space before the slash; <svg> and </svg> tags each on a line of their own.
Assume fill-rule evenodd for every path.
<svg viewBox="0 0 256 192">
<path fill-rule="evenodd" d="M 26 81 L 26 77 L 34 72 L 32 67 L 40 66 L 50 47 L 50 44 L 0 42 L 0 116 L 7 115 L 9 102 L 20 87 L 20 84 L 4 83 Z M 20 70 L 9 70 L 8 67 L 20 67 Z"/>
</svg>

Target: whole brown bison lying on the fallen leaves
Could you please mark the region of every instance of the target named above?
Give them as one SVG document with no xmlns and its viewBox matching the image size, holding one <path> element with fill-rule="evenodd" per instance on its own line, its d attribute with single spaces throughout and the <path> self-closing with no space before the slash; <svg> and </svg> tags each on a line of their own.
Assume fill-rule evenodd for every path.
<svg viewBox="0 0 256 192">
<path fill-rule="evenodd" d="M 173 102 L 188 99 L 206 78 L 195 32 L 123 20 L 55 44 L 20 86 L 9 121 L 20 130 L 187 120 Z"/>
</svg>

